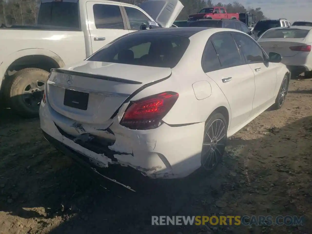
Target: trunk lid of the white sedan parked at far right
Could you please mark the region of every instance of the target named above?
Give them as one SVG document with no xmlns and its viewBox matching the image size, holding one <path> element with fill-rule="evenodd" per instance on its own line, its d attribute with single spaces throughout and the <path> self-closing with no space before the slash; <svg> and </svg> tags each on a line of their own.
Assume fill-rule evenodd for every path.
<svg viewBox="0 0 312 234">
<path fill-rule="evenodd" d="M 260 38 L 257 42 L 267 54 L 269 54 L 269 52 L 275 52 L 283 57 L 291 57 L 297 55 L 298 53 L 302 53 L 300 51 L 292 51 L 289 47 L 306 45 L 305 38 L 291 38 L 291 40 L 289 38 Z"/>
</svg>

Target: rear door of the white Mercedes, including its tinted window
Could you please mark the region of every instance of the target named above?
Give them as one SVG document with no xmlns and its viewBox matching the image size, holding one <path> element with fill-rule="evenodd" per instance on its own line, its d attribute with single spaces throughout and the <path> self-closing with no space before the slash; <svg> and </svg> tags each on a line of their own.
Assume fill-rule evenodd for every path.
<svg viewBox="0 0 312 234">
<path fill-rule="evenodd" d="M 213 35 L 203 55 L 203 70 L 227 98 L 231 108 L 231 128 L 245 122 L 255 94 L 254 73 L 245 64 L 230 33 Z"/>
</svg>

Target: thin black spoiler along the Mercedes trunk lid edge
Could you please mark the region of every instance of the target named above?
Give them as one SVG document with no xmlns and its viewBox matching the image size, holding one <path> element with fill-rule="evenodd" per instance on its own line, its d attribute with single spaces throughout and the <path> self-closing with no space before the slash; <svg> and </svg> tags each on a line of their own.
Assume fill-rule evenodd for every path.
<svg viewBox="0 0 312 234">
<path fill-rule="evenodd" d="M 58 73 L 63 73 L 67 75 L 72 75 L 72 76 L 84 76 L 84 77 L 89 77 L 89 78 L 94 78 L 94 79 L 99 79 L 99 80 L 109 80 L 109 81 L 114 81 L 114 82 L 119 82 L 119 83 L 124 83 L 124 84 L 132 84 L 132 85 L 142 84 L 142 82 L 134 81 L 134 80 L 126 80 L 126 79 L 117 78 L 117 77 L 102 76 L 102 75 L 84 73 L 84 72 L 79 72 L 79 71 L 68 71 L 68 70 L 63 70 L 63 69 L 58 69 L 58 68 L 51 69 L 51 72 L 58 72 Z"/>
</svg>

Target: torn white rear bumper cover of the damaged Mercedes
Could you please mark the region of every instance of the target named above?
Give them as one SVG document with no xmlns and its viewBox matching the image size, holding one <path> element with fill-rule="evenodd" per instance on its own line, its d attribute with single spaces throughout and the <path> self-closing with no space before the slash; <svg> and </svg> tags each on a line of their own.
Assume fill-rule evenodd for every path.
<svg viewBox="0 0 312 234">
<path fill-rule="evenodd" d="M 65 145 L 100 168 L 119 164 L 150 178 L 182 178 L 201 165 L 204 123 L 132 130 L 116 116 L 102 125 L 81 124 L 53 110 L 48 101 L 41 103 L 39 114 L 51 144 Z"/>
</svg>

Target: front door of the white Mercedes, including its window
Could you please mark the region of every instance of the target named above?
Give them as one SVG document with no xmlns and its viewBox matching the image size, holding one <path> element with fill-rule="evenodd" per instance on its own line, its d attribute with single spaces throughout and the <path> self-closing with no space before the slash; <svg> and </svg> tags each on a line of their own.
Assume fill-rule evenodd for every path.
<svg viewBox="0 0 312 234">
<path fill-rule="evenodd" d="M 255 97 L 251 115 L 255 115 L 268 108 L 268 105 L 275 100 L 274 90 L 277 83 L 276 66 L 267 62 L 266 53 L 247 35 L 233 33 L 234 40 L 241 55 L 250 66 L 255 75 Z"/>
</svg>

